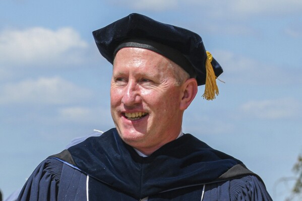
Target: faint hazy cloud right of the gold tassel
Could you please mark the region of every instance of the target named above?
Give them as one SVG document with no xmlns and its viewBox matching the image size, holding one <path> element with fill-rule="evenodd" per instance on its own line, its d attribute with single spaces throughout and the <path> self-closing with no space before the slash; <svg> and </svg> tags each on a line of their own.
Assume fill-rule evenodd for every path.
<svg viewBox="0 0 302 201">
<path fill-rule="evenodd" d="M 213 56 L 223 64 L 224 81 L 236 84 L 251 85 L 286 85 L 301 83 L 297 80 L 300 70 L 287 66 L 281 68 L 267 63 L 261 63 L 248 57 L 236 55 L 229 51 L 215 51 Z M 281 82 L 282 81 L 282 82 Z"/>
</svg>

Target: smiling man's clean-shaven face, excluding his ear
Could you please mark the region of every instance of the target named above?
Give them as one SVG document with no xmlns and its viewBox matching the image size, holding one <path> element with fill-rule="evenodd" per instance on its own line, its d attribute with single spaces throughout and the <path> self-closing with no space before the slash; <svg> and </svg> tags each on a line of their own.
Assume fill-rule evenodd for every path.
<svg viewBox="0 0 302 201">
<path fill-rule="evenodd" d="M 119 50 L 114 60 L 111 115 L 124 142 L 145 154 L 174 140 L 182 126 L 182 87 L 175 85 L 169 63 L 136 47 Z"/>
</svg>

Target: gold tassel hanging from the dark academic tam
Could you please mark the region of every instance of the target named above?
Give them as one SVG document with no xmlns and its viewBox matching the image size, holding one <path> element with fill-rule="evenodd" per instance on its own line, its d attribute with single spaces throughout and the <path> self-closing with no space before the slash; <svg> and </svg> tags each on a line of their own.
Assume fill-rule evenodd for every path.
<svg viewBox="0 0 302 201">
<path fill-rule="evenodd" d="M 205 92 L 202 97 L 206 100 L 215 99 L 215 94 L 218 96 L 219 91 L 216 84 L 216 76 L 213 70 L 213 66 L 211 61 L 213 59 L 212 54 L 207 51 L 207 60 L 206 60 L 206 85 Z"/>
</svg>

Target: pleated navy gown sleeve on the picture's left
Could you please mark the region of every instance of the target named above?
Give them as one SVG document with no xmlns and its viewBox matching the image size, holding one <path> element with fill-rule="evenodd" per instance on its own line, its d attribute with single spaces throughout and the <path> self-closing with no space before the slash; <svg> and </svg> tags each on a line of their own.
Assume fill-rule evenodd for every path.
<svg viewBox="0 0 302 201">
<path fill-rule="evenodd" d="M 18 200 L 57 200 L 62 169 L 61 161 L 51 158 L 44 160 L 26 181 Z"/>
</svg>

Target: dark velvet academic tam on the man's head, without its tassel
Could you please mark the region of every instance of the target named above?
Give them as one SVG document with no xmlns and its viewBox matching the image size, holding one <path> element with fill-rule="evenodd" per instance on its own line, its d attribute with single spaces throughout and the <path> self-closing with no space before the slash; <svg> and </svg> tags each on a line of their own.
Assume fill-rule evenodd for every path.
<svg viewBox="0 0 302 201">
<path fill-rule="evenodd" d="M 100 53 L 110 63 L 123 47 L 150 49 L 177 63 L 196 78 L 198 85 L 206 83 L 206 49 L 202 38 L 188 29 L 132 13 L 92 34 Z M 216 77 L 222 74 L 223 70 L 214 58 L 211 64 Z"/>
</svg>

